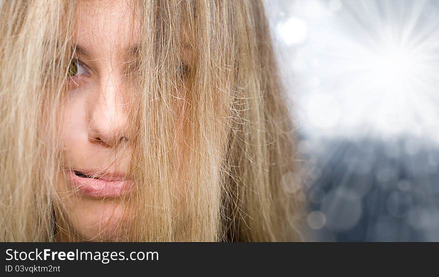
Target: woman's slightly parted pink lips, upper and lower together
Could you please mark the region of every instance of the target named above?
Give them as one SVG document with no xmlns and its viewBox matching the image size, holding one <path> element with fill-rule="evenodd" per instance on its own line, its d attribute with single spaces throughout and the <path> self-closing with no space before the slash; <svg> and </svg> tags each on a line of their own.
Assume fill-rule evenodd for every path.
<svg viewBox="0 0 439 277">
<path fill-rule="evenodd" d="M 69 170 L 72 187 L 82 195 L 93 198 L 121 197 L 132 187 L 132 181 L 118 174 L 96 174 L 83 170 Z"/>
</svg>

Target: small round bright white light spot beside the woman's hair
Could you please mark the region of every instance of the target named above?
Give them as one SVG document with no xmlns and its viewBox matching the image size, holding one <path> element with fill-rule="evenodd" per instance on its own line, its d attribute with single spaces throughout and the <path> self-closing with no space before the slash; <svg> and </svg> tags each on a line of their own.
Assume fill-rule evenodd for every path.
<svg viewBox="0 0 439 277">
<path fill-rule="evenodd" d="M 307 26 L 303 20 L 292 16 L 278 24 L 277 33 L 288 45 L 300 44 L 306 39 Z"/>
</svg>

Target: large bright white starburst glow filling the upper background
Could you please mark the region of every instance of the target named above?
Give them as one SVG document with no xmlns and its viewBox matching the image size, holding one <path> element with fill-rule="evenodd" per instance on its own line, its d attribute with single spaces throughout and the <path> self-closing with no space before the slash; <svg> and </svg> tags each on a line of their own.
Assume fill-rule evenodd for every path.
<svg viewBox="0 0 439 277">
<path fill-rule="evenodd" d="M 301 131 L 439 141 L 437 17 L 418 1 L 331 3 L 298 1 L 294 10 L 307 27 L 288 65 Z"/>
</svg>

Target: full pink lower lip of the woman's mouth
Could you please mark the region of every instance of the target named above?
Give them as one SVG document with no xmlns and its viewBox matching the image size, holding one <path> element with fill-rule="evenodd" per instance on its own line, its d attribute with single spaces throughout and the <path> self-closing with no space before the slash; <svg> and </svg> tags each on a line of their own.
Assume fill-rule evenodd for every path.
<svg viewBox="0 0 439 277">
<path fill-rule="evenodd" d="M 107 181 L 77 176 L 73 170 L 68 172 L 74 190 L 93 198 L 117 198 L 125 195 L 131 188 L 130 180 Z"/>
</svg>

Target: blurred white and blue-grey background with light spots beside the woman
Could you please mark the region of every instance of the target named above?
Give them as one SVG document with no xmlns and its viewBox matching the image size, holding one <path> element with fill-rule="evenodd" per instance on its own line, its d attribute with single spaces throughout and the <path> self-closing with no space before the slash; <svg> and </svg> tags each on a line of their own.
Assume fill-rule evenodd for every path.
<svg viewBox="0 0 439 277">
<path fill-rule="evenodd" d="M 309 241 L 439 241 L 439 1 L 265 0 Z"/>
</svg>

